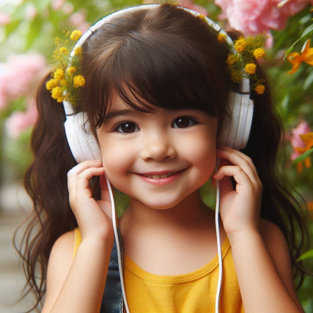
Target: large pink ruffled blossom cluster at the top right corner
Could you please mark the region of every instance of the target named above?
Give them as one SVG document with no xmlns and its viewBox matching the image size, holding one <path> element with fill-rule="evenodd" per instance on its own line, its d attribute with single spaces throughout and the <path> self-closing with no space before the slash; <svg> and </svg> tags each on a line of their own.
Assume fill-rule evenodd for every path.
<svg viewBox="0 0 313 313">
<path fill-rule="evenodd" d="M 229 26 L 248 36 L 266 33 L 266 46 L 273 45 L 270 29 L 283 29 L 288 17 L 303 10 L 313 0 L 215 0 L 222 9 L 221 19 Z"/>
</svg>

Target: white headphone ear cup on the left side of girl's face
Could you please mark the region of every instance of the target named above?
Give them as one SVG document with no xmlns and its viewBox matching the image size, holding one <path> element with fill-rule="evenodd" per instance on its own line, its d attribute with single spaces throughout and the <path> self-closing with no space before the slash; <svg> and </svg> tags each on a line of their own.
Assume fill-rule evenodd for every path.
<svg viewBox="0 0 313 313">
<path fill-rule="evenodd" d="M 86 131 L 90 129 L 90 126 L 88 122 L 84 126 L 82 112 L 67 116 L 64 128 L 69 148 L 77 163 L 101 160 L 101 152 L 95 136 L 85 132 L 85 129 Z"/>
</svg>

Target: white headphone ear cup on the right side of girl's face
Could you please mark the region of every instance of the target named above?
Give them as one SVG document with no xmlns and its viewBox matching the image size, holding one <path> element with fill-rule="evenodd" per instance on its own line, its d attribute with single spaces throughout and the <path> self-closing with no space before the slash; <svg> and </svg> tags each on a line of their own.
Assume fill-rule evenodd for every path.
<svg viewBox="0 0 313 313">
<path fill-rule="evenodd" d="M 253 117 L 253 101 L 249 94 L 231 91 L 228 100 L 231 120 L 223 122 L 218 143 L 236 150 L 244 149 L 250 136 Z"/>
</svg>

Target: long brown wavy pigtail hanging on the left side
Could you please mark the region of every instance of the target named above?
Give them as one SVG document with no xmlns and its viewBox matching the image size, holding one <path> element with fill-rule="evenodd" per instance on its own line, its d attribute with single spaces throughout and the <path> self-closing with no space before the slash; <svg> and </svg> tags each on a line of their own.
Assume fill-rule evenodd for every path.
<svg viewBox="0 0 313 313">
<path fill-rule="evenodd" d="M 65 136 L 63 105 L 52 99 L 45 87 L 50 78 L 49 73 L 37 92 L 38 121 L 31 136 L 33 162 L 24 174 L 24 187 L 33 201 L 33 211 L 14 234 L 27 280 L 21 299 L 32 292 L 37 301 L 27 312 L 42 302 L 47 263 L 55 240 L 77 226 L 67 188 L 67 172 L 77 163 Z M 23 225 L 26 229 L 17 248 L 16 235 Z"/>
</svg>

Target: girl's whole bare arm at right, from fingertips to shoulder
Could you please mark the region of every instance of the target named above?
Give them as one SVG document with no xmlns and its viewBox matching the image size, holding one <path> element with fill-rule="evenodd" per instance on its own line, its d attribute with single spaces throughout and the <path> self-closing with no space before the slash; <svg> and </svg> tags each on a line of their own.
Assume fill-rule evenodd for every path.
<svg viewBox="0 0 313 313">
<path fill-rule="evenodd" d="M 274 224 L 260 221 L 263 187 L 257 170 L 244 153 L 222 149 L 217 151 L 222 159 L 214 178 L 220 181 L 220 213 L 244 311 L 301 313 L 285 238 Z M 231 177 L 237 182 L 236 190 Z"/>
</svg>

